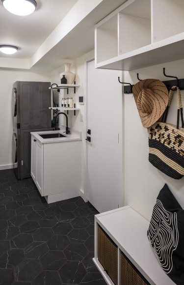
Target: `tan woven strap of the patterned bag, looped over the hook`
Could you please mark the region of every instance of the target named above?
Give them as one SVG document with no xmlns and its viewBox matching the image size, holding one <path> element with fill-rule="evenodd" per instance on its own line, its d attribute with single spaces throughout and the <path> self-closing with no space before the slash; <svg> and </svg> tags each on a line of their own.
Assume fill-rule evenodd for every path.
<svg viewBox="0 0 184 285">
<path fill-rule="evenodd" d="M 184 128 L 184 115 L 183 115 L 183 106 L 182 106 L 182 96 L 179 87 L 173 86 L 169 92 L 169 101 L 167 107 L 170 106 L 173 92 L 177 89 L 178 94 L 178 113 L 177 113 L 177 125 L 176 128 L 179 129 L 179 121 L 180 121 L 180 115 L 181 115 L 181 121 L 182 121 L 182 128 Z M 167 108 L 168 111 L 168 108 Z M 164 122 L 166 121 L 166 116 L 164 118 Z"/>
</svg>

